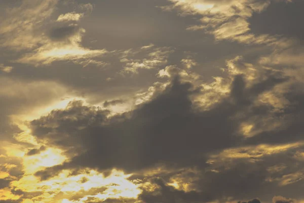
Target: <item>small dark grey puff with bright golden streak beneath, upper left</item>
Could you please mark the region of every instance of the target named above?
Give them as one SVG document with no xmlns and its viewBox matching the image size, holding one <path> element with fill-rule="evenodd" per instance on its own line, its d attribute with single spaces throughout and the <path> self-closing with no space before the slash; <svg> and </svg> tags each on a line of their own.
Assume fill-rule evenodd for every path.
<svg viewBox="0 0 304 203">
<path fill-rule="evenodd" d="M 105 53 L 103 50 L 91 50 L 81 45 L 82 35 L 85 29 L 77 24 L 67 24 L 53 27 L 49 31 L 46 44 L 37 48 L 32 53 L 25 54 L 17 62 L 28 63 L 35 66 L 48 65 L 56 60 L 70 60 L 75 63 L 87 66 L 90 63 L 97 65 L 106 64 L 102 61 L 96 61 L 94 58 L 100 57 Z"/>
</svg>

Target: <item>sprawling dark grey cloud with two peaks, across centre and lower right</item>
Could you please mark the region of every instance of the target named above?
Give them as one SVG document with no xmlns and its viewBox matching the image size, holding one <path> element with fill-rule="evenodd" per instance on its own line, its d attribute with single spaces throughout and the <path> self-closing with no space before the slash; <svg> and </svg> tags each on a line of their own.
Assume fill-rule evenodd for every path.
<svg viewBox="0 0 304 203">
<path fill-rule="evenodd" d="M 256 105 L 254 101 L 262 93 L 289 79 L 278 72 L 264 73 L 263 76 L 249 87 L 244 76 L 235 76 L 231 94 L 210 110 L 200 110 L 192 103 L 190 97 L 201 90 L 195 89 L 190 83 L 180 82 L 178 77 L 163 92 L 157 92 L 152 100 L 134 111 L 112 118 L 107 118 L 106 111 L 83 106 L 79 102 L 71 103 L 65 110 L 55 110 L 46 117 L 33 120 L 31 128 L 38 139 L 48 140 L 51 145 L 67 150 L 67 154 L 75 149 L 80 153 L 70 162 L 47 168 L 36 175 L 45 180 L 64 168 L 77 170 L 82 167 L 101 171 L 115 167 L 134 173 L 158 163 L 176 168 L 195 166 L 202 171 L 207 170 L 210 165 L 205 163 L 206 155 L 225 148 L 243 146 L 244 139 L 239 134 L 240 122 L 251 117 L 269 116 L 273 111 L 273 107 Z M 256 144 L 262 143 L 260 140 Z M 276 188 L 274 184 L 265 182 L 269 176 L 267 167 L 275 164 L 271 160 L 279 162 L 273 156 L 270 157 L 257 163 L 241 159 L 230 168 L 220 166 L 217 168 L 219 173 L 210 171 L 197 174 L 199 180 L 194 185 L 202 189 L 203 193 L 195 194 L 194 197 L 193 192 L 185 192 L 186 197 L 183 197 L 179 194 L 183 192 L 179 191 L 178 197 L 170 194 L 166 197 L 152 195 L 144 198 L 169 198 L 168 202 L 177 201 L 175 198 L 193 198 L 193 202 L 198 202 L 202 195 L 207 199 L 230 195 L 240 199 L 248 198 L 249 195 L 252 198 L 262 196 L 265 188 Z M 298 170 L 294 168 L 293 172 Z M 290 170 L 285 173 L 293 172 Z"/>
</svg>

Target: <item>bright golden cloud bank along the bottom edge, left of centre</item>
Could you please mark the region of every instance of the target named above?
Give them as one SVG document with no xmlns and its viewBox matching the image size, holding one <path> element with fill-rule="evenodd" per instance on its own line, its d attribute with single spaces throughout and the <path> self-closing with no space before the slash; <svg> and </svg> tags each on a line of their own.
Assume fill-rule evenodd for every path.
<svg viewBox="0 0 304 203">
<path fill-rule="evenodd" d="M 22 189 L 28 194 L 26 197 L 33 200 L 85 203 L 121 199 L 134 202 L 140 189 L 138 184 L 128 180 L 129 176 L 117 170 L 111 170 L 104 176 L 86 168 L 81 174 L 64 171 L 59 176 L 42 182 L 32 175 L 27 175 L 14 181 L 12 186 Z"/>
</svg>

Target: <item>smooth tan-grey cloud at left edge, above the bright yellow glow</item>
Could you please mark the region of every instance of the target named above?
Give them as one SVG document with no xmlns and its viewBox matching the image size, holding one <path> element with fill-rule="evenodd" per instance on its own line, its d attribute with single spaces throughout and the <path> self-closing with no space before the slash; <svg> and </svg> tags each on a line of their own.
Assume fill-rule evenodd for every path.
<svg viewBox="0 0 304 203">
<path fill-rule="evenodd" d="M 39 108 L 43 106 L 46 101 L 53 101 L 54 96 L 58 95 L 59 92 L 64 92 L 60 85 L 53 82 L 51 83 L 54 86 L 49 88 L 49 82 L 44 81 L 29 83 L 19 81 L 16 83 L 12 78 L 7 76 L 0 76 L 0 81 L 3 84 L 3 90 L 0 92 L 0 112 L 2 115 L 0 117 L 1 140 L 13 141 L 14 134 L 22 132 L 20 127 L 12 121 L 12 115 L 22 114 L 22 112 L 29 112 L 33 108 Z M 54 89 L 57 90 L 53 91 Z"/>
</svg>

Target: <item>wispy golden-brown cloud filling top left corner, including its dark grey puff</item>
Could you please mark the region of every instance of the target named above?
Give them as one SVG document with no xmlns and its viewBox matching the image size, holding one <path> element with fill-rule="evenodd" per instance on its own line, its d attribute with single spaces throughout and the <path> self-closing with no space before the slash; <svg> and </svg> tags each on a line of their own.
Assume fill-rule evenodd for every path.
<svg viewBox="0 0 304 203">
<path fill-rule="evenodd" d="M 104 64 L 93 58 L 102 56 L 106 51 L 84 48 L 81 41 L 85 29 L 77 24 L 66 24 L 79 21 L 84 14 L 66 13 L 59 15 L 57 21 L 51 21 L 58 4 L 57 0 L 47 0 L 43 4 L 36 0 L 25 0 L 20 7 L 6 11 L 6 19 L 0 23 L 0 35 L 4 39 L 2 46 L 29 50 L 14 62 L 35 66 L 47 65 L 56 60 L 71 60 L 84 66 L 89 63 Z M 80 9 L 91 10 L 92 5 L 80 5 Z M 48 30 L 47 27 L 52 28 Z"/>
</svg>

